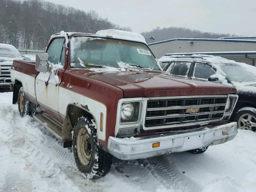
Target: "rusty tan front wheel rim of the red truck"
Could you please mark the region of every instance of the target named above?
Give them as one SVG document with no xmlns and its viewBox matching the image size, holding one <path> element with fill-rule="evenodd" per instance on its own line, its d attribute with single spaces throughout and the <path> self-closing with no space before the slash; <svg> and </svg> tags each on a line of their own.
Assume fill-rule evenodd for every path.
<svg viewBox="0 0 256 192">
<path fill-rule="evenodd" d="M 89 164 L 92 156 L 92 147 L 90 136 L 85 128 L 80 128 L 76 137 L 76 150 L 80 162 L 86 166 Z"/>
</svg>

